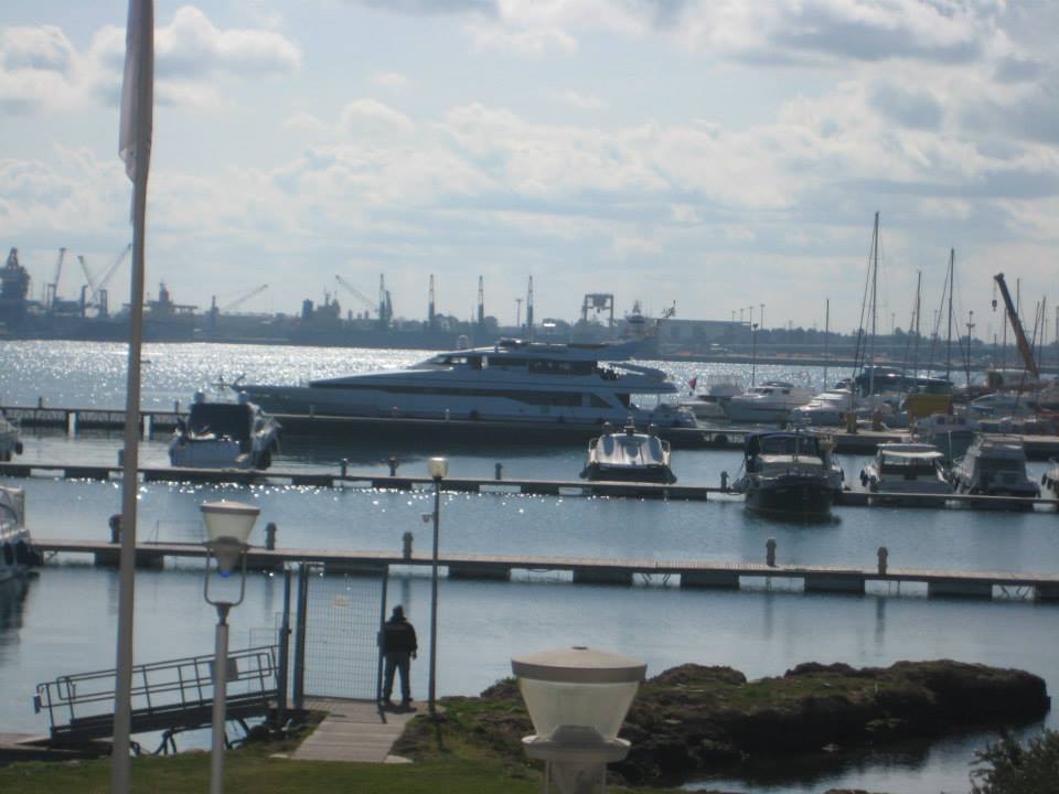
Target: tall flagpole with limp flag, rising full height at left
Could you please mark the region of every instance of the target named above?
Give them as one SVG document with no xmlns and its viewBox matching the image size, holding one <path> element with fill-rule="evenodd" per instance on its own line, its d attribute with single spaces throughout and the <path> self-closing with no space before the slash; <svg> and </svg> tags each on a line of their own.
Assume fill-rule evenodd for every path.
<svg viewBox="0 0 1059 794">
<path fill-rule="evenodd" d="M 125 401 L 120 588 L 110 777 L 114 794 L 127 794 L 131 771 L 129 747 L 132 710 L 136 498 L 139 493 L 140 348 L 143 339 L 143 251 L 154 83 L 153 36 L 152 0 L 129 0 L 119 152 L 126 162 L 126 173 L 132 179 L 132 278 L 129 287 L 129 360 Z"/>
</svg>

